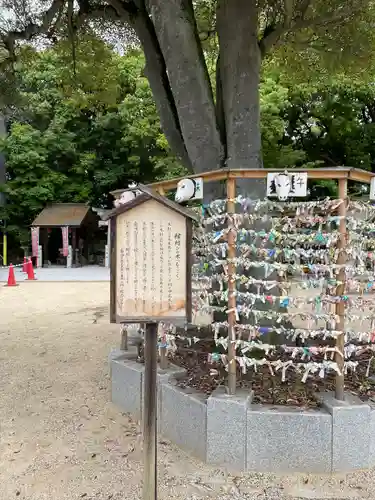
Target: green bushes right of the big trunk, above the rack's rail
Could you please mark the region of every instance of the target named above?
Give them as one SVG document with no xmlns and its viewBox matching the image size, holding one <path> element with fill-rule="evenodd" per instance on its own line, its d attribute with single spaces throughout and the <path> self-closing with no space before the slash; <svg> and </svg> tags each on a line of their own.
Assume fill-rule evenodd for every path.
<svg viewBox="0 0 375 500">
<path fill-rule="evenodd" d="M 350 166 L 375 171 L 375 86 L 372 68 L 300 82 L 268 64 L 261 87 L 266 167 Z M 355 190 L 355 186 L 353 186 Z M 334 196 L 333 181 L 312 193 Z"/>
</svg>

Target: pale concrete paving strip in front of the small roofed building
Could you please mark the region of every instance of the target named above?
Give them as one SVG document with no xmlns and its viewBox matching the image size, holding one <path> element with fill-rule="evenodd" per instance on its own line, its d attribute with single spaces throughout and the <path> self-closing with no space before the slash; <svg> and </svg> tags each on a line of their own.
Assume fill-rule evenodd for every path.
<svg viewBox="0 0 375 500">
<path fill-rule="evenodd" d="M 77 268 L 43 267 L 34 270 L 38 281 L 109 281 L 109 269 L 101 266 L 85 266 Z M 22 283 L 26 275 L 21 267 L 15 267 L 17 283 Z M 0 268 L 0 282 L 8 279 L 8 268 Z"/>
</svg>

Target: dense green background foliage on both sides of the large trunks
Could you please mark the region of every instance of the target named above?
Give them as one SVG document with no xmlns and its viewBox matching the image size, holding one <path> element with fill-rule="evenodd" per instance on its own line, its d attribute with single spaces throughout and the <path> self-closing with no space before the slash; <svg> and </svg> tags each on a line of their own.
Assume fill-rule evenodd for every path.
<svg viewBox="0 0 375 500">
<path fill-rule="evenodd" d="M 199 6 L 201 33 L 209 34 L 214 26 L 214 3 L 207 0 Z M 203 41 L 212 76 L 217 54 L 213 39 L 210 35 Z M 305 54 L 312 64 L 312 52 Z M 284 63 L 280 52 L 263 63 L 265 167 L 349 165 L 373 170 L 371 61 L 358 74 L 329 73 L 317 65 L 309 80 L 302 70 L 290 72 L 290 66 L 286 73 Z M 76 42 L 75 64 L 65 40 L 44 52 L 22 49 L 14 67 L 16 85 L 6 103 L 12 123 L 2 147 L 9 181 L 1 189 L 8 204 L 0 213 L 19 241 L 28 241 L 28 224 L 48 202 L 108 206 L 109 191 L 129 181 L 185 174 L 161 132 L 143 67 L 140 52 L 120 56 L 89 35 Z M 336 190 L 330 181 L 312 188 L 324 195 Z"/>
</svg>

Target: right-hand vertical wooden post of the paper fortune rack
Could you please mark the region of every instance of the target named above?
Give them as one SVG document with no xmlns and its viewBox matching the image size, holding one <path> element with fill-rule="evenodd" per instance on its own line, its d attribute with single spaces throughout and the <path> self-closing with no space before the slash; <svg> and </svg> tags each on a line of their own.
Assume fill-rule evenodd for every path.
<svg viewBox="0 0 375 500">
<path fill-rule="evenodd" d="M 339 179 L 339 199 L 344 200 L 344 203 L 341 203 L 339 207 L 339 216 L 340 219 L 340 240 L 338 244 L 338 248 L 342 250 L 338 257 L 338 264 L 345 264 L 347 260 L 346 252 L 344 251 L 346 246 L 346 205 L 347 205 L 347 194 L 348 194 L 348 180 L 347 179 Z M 342 284 L 339 284 L 336 288 L 336 295 L 342 296 L 345 295 L 346 288 L 346 273 L 345 269 L 341 269 L 338 274 L 338 281 L 341 281 Z M 339 322 L 337 324 L 336 329 L 344 331 L 345 328 L 345 304 L 343 301 L 338 302 L 336 304 L 336 314 L 339 317 Z M 336 353 L 335 361 L 340 369 L 341 375 L 336 375 L 336 384 L 335 384 L 335 398 L 343 401 L 344 400 L 344 346 L 345 346 L 345 334 L 342 333 L 336 339 L 336 348 L 339 353 Z"/>
</svg>

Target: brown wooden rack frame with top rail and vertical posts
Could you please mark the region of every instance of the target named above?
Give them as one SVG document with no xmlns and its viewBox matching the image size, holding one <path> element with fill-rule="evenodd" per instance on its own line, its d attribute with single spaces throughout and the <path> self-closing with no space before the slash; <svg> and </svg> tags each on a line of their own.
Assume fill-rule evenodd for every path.
<svg viewBox="0 0 375 500">
<path fill-rule="evenodd" d="M 226 193 L 228 198 L 227 211 L 230 213 L 234 212 L 233 200 L 236 197 L 236 179 L 266 179 L 268 173 L 280 173 L 282 169 L 220 169 L 210 172 L 203 172 L 200 174 L 186 175 L 184 177 L 178 177 L 174 179 L 166 179 L 159 182 L 149 184 L 148 187 L 157 191 L 160 195 L 165 195 L 166 192 L 176 189 L 177 184 L 180 180 L 186 178 L 202 178 L 203 182 L 215 182 L 215 181 L 226 181 Z M 338 182 L 338 194 L 340 199 L 347 198 L 348 191 L 348 181 L 361 182 L 364 184 L 370 184 L 371 179 L 375 177 L 375 174 L 368 172 L 366 170 L 361 170 L 358 168 L 351 167 L 335 167 L 335 168 L 314 168 L 314 169 L 290 169 L 290 173 L 307 173 L 309 180 L 336 180 Z M 123 190 L 112 191 L 111 194 L 118 198 Z M 339 208 L 339 215 L 343 217 L 340 222 L 340 232 L 341 238 L 339 242 L 340 248 L 345 248 L 346 244 L 346 204 L 341 204 Z M 228 238 L 228 255 L 230 257 L 235 256 L 235 238 Z M 340 264 L 345 264 L 346 255 L 344 252 L 340 255 Z M 230 291 L 235 291 L 235 280 L 231 279 L 236 273 L 236 266 L 231 264 L 228 266 L 228 283 Z M 342 273 L 340 273 L 343 276 Z M 345 284 L 339 285 L 337 288 L 338 295 L 344 295 Z M 235 307 L 235 296 L 233 293 L 229 294 L 228 298 L 228 309 L 233 311 Z M 342 303 L 336 304 L 336 314 L 339 316 L 339 329 L 344 329 L 344 305 Z M 233 327 L 235 324 L 235 314 L 234 312 L 229 312 L 228 314 L 229 331 L 228 335 L 233 338 L 234 332 Z M 338 336 L 336 340 L 336 347 L 343 353 L 344 351 L 344 334 Z M 165 350 L 165 349 L 162 349 Z M 161 358 L 163 364 L 165 363 L 166 353 L 161 353 Z M 342 375 L 337 375 L 335 384 L 335 397 L 336 399 L 344 399 L 344 357 L 343 355 L 336 354 L 335 361 L 340 368 Z M 234 394 L 236 391 L 236 362 L 235 362 L 235 349 L 232 344 L 228 347 L 228 392 L 229 394 Z"/>
</svg>

